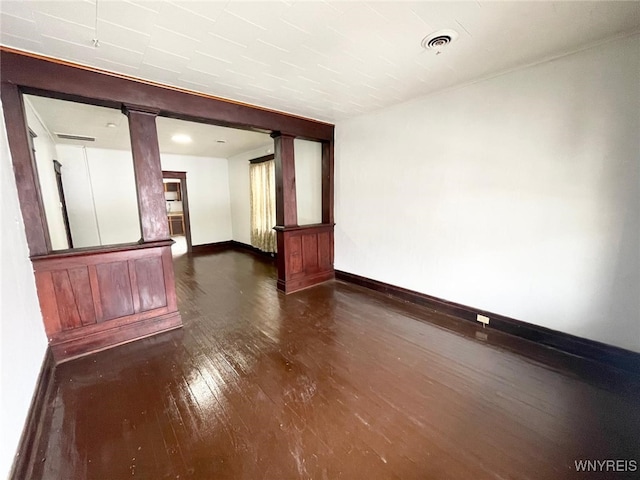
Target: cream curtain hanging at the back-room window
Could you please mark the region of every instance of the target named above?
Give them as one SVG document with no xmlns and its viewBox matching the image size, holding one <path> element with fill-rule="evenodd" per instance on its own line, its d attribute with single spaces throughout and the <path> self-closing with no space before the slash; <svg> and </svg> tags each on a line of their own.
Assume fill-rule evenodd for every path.
<svg viewBox="0 0 640 480">
<path fill-rule="evenodd" d="M 276 163 L 273 160 L 252 163 L 251 245 L 264 252 L 276 251 Z"/>
</svg>

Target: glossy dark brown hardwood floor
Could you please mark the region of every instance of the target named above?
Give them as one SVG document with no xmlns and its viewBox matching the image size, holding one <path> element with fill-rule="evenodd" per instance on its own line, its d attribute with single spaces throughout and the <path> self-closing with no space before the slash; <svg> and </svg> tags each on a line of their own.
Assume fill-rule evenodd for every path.
<svg viewBox="0 0 640 480">
<path fill-rule="evenodd" d="M 175 258 L 184 328 L 56 368 L 34 479 L 563 479 L 640 462 L 640 380 L 341 282 Z M 626 463 L 631 467 L 633 463 Z"/>
</svg>

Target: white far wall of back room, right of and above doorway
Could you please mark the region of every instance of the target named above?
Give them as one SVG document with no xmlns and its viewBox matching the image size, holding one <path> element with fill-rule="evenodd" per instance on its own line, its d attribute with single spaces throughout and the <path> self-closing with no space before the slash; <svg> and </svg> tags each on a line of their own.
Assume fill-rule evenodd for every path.
<svg viewBox="0 0 640 480">
<path fill-rule="evenodd" d="M 227 160 L 161 153 L 160 161 L 163 170 L 187 172 L 192 244 L 231 240 Z"/>
</svg>

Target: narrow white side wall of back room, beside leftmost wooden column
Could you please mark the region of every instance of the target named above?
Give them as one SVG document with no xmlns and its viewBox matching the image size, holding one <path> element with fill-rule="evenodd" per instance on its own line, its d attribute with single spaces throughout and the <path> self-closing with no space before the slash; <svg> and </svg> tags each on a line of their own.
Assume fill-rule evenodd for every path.
<svg viewBox="0 0 640 480">
<path fill-rule="evenodd" d="M 36 166 L 38 168 L 38 179 L 40 181 L 40 193 L 47 217 L 51 248 L 53 250 L 64 250 L 69 248 L 69 245 L 67 243 L 67 232 L 62 218 L 56 172 L 53 168 L 53 160 L 57 160 L 55 143 L 49 130 L 47 130 L 40 121 L 29 99 L 26 97 L 23 98 L 27 123 L 31 130 L 37 135 L 37 137 L 33 139 L 33 146 L 36 150 Z"/>
</svg>

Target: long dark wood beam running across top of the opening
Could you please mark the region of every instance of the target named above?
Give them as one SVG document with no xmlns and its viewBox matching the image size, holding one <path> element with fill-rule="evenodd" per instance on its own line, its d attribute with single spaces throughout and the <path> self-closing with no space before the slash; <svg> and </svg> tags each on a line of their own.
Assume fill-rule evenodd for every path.
<svg viewBox="0 0 640 480">
<path fill-rule="evenodd" d="M 7 47 L 0 47 L 0 52 L 3 81 L 27 93 L 112 108 L 139 105 L 166 117 L 266 133 L 275 130 L 309 140 L 333 138 L 333 125 L 324 122 Z"/>
</svg>

